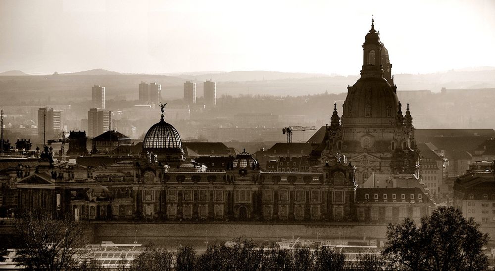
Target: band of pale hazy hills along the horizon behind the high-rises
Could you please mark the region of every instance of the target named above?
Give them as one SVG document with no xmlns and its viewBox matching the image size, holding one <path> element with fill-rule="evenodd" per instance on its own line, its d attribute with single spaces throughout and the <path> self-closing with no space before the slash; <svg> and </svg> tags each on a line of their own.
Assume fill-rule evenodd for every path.
<svg viewBox="0 0 495 271">
<path fill-rule="evenodd" d="M 343 93 L 359 76 L 325 76 L 322 74 L 284 73 L 268 71 L 206 72 L 170 75 L 123 74 L 94 69 L 58 75 L 28 75 L 21 71 L 2 73 L 0 94 L 9 95 L 9 103 L 46 100 L 68 103 L 91 98 L 91 87 L 106 87 L 107 99 L 138 99 L 138 85 L 142 81 L 162 85 L 164 100 L 183 97 L 183 84 L 197 83 L 197 96 L 203 95 L 205 80 L 217 82 L 217 96 L 275 95 L 300 96 L 318 93 Z M 24 76 L 20 76 L 24 75 Z M 484 89 L 495 88 L 495 68 L 481 67 L 450 70 L 431 74 L 396 74 L 397 90 Z M 19 95 L 22 93 L 22 95 Z M 76 94 L 77 95 L 74 95 Z M 5 102 L 5 100 L 3 100 Z M 0 101 L 1 102 L 1 101 Z"/>
</svg>

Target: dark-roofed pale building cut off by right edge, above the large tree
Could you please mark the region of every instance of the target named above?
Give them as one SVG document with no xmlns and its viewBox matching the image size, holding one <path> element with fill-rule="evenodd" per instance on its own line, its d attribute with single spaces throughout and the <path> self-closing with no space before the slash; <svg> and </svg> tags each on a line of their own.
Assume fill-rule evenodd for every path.
<svg viewBox="0 0 495 271">
<path fill-rule="evenodd" d="M 486 163 L 483 163 L 486 164 Z M 453 206 L 481 226 L 495 225 L 495 173 L 490 165 L 471 166 L 454 183 Z"/>
</svg>

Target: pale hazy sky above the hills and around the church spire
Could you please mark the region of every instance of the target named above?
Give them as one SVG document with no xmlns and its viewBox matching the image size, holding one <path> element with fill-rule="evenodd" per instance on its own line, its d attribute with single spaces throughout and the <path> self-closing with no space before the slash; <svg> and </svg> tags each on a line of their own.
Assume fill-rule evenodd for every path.
<svg viewBox="0 0 495 271">
<path fill-rule="evenodd" d="M 495 0 L 0 0 L 0 71 L 354 75 L 372 13 L 394 73 L 495 66 Z"/>
</svg>

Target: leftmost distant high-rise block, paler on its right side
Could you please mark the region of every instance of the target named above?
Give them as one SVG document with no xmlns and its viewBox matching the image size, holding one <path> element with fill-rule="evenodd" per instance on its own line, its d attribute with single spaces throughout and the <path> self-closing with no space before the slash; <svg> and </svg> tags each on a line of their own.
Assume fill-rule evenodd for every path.
<svg viewBox="0 0 495 271">
<path fill-rule="evenodd" d="M 62 131 L 61 115 L 61 110 L 50 107 L 38 109 L 38 135 L 45 136 L 45 142 Z"/>
</svg>

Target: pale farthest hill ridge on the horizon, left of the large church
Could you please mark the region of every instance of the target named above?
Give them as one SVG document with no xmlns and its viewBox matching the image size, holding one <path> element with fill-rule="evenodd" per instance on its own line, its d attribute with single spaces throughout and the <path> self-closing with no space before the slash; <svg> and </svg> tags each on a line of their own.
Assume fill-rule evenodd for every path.
<svg viewBox="0 0 495 271">
<path fill-rule="evenodd" d="M 233 72 L 208 72 L 169 74 L 193 81 L 205 81 L 211 79 L 215 82 L 246 82 L 246 81 L 271 81 L 283 79 L 306 79 L 324 77 L 328 75 L 318 73 L 287 73 L 270 71 L 233 71 Z"/>
</svg>

